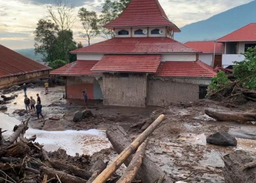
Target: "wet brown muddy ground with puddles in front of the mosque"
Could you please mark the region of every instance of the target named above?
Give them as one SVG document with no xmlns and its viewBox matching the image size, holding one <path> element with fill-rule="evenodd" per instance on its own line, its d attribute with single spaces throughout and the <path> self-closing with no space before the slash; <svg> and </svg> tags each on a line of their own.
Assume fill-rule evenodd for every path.
<svg viewBox="0 0 256 183">
<path fill-rule="evenodd" d="M 224 103 L 202 100 L 198 103 L 175 103 L 170 106 L 131 108 L 103 106 L 102 101 L 90 101 L 89 109 L 94 117 L 73 122 L 73 114 L 84 109 L 81 100 L 62 99 L 63 86 L 49 89 L 44 95 L 44 88 L 28 89 L 28 96 L 41 95 L 44 120 L 37 120 L 35 115 L 19 116 L 17 109 L 24 109 L 23 91 L 14 100 L 4 104 L 7 111 L 0 113 L 0 127 L 8 129 L 21 120 L 31 117 L 30 129 L 26 135 L 37 134 L 37 141 L 44 143 L 47 151 L 63 148 L 70 155 L 95 154 L 111 160 L 116 153 L 105 136 L 105 130 L 112 125 L 122 126 L 131 137 L 140 134 L 138 127 L 130 128 L 142 120 L 164 113 L 166 120 L 150 136 L 146 153 L 175 180 L 185 179 L 189 183 L 224 183 L 221 157 L 237 149 L 256 152 L 255 123 L 220 122 L 204 114 L 204 109 L 213 108 L 228 111 L 248 111 L 256 109 L 256 103 Z M 153 112 L 153 114 L 152 114 Z M 60 120 L 49 120 L 49 117 Z M 237 147 L 214 146 L 206 143 L 206 136 L 215 131 L 226 131 L 237 137 Z M 102 150 L 102 151 L 101 151 Z M 101 152 L 100 152 L 101 151 Z M 118 172 L 121 174 L 122 172 Z M 186 178 L 189 177 L 189 178 Z"/>
</svg>

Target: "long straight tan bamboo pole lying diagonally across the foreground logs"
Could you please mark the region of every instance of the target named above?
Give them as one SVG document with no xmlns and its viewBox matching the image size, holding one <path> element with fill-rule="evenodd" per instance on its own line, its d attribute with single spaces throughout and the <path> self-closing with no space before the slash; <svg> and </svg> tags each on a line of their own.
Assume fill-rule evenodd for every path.
<svg viewBox="0 0 256 183">
<path fill-rule="evenodd" d="M 157 119 L 148 126 L 145 131 L 139 135 L 123 152 L 121 152 L 115 160 L 101 173 L 99 176 L 93 181 L 93 183 L 105 183 L 111 175 L 116 172 L 116 170 L 119 168 L 119 166 L 124 163 L 124 161 L 133 154 L 136 149 L 142 144 L 146 138 L 154 132 L 154 130 L 162 123 L 162 121 L 165 119 L 165 116 L 161 114 Z"/>
</svg>

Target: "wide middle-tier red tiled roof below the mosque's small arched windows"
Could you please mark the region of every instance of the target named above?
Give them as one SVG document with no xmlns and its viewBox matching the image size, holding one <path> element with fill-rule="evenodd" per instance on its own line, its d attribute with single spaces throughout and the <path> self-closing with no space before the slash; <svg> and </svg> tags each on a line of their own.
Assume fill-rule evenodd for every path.
<svg viewBox="0 0 256 183">
<path fill-rule="evenodd" d="M 144 53 L 197 53 L 183 43 L 168 37 L 116 37 L 70 53 L 144 54 Z"/>
</svg>

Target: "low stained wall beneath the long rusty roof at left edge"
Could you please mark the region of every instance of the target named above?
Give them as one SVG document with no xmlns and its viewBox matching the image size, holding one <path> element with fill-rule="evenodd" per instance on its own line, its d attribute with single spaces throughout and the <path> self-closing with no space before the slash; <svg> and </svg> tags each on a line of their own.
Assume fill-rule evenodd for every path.
<svg viewBox="0 0 256 183">
<path fill-rule="evenodd" d="M 22 83 L 29 83 L 32 80 L 41 79 L 49 76 L 49 70 L 38 71 L 28 74 L 22 74 L 17 76 L 3 77 L 0 78 L 0 89 L 8 88 L 14 85 L 19 85 Z"/>
</svg>

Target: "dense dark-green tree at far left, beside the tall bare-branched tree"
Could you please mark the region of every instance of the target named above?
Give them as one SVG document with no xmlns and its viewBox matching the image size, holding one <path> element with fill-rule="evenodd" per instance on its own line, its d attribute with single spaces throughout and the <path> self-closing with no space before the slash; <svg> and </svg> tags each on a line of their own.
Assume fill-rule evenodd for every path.
<svg viewBox="0 0 256 183">
<path fill-rule="evenodd" d="M 51 20 L 40 19 L 35 29 L 35 53 L 42 54 L 47 62 L 55 60 L 54 46 L 57 26 Z"/>
</svg>

